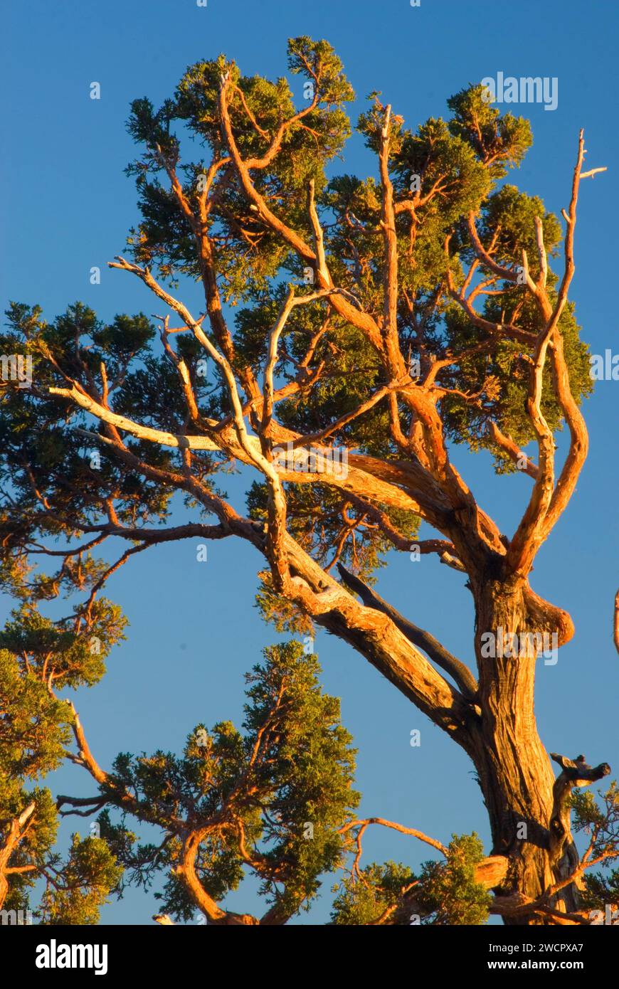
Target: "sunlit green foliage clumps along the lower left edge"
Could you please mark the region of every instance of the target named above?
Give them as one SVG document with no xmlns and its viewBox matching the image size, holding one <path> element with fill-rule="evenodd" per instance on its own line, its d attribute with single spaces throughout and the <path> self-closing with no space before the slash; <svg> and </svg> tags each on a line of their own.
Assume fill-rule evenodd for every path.
<svg viewBox="0 0 619 989">
<path fill-rule="evenodd" d="M 97 629 L 108 635 L 109 648 L 113 627 Z M 98 923 L 99 908 L 122 875 L 114 855 L 98 839 L 73 836 L 63 861 L 53 851 L 55 801 L 47 788 L 32 787 L 63 762 L 71 737 L 71 708 L 55 696 L 51 682 L 91 684 L 103 673 L 99 658 L 93 659 L 76 640 L 32 606 L 14 612 L 0 636 L 0 845 L 11 841 L 12 829 L 34 805 L 6 862 L 10 871 L 4 909 L 27 909 L 37 880 L 44 880 L 43 897 L 34 910 L 42 924 Z"/>
</svg>

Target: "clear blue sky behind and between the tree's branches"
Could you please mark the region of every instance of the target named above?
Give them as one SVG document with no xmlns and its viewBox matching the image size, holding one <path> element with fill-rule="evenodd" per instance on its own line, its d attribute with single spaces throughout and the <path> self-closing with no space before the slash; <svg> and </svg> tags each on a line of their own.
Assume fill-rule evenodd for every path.
<svg viewBox="0 0 619 989">
<path fill-rule="evenodd" d="M 543 15 L 542 15 L 543 10 Z M 116 313 L 153 312 L 147 290 L 105 265 L 122 252 L 137 219 L 133 182 L 123 169 L 133 157 L 125 131 L 130 101 L 157 104 L 170 94 L 187 65 L 225 52 L 245 74 L 286 74 L 291 36 L 325 38 L 344 62 L 358 97 L 380 90 L 408 126 L 444 115 L 446 100 L 486 76 L 557 77 L 559 101 L 511 107 L 532 122 L 534 144 L 511 173 L 529 194 L 560 214 L 570 196 L 579 128 L 585 129 L 587 165 L 608 172 L 582 185 L 576 228 L 572 298 L 593 353 L 619 352 L 615 293 L 618 9 L 610 3 L 535 0 L 498 5 L 482 0 L 44 0 L 14 3 L 0 77 L 5 102 L 2 213 L 2 308 L 9 299 L 39 303 L 52 318 L 76 300 L 104 319 Z M 89 98 L 101 84 L 101 100 Z M 292 77 L 302 99 L 302 82 Z M 376 174 L 376 162 L 354 136 L 337 170 Z M 89 272 L 101 267 L 101 285 Z M 199 309 L 191 288 L 185 301 Z M 575 497 L 538 555 L 534 589 L 568 609 L 575 639 L 556 666 L 539 666 L 537 714 L 551 751 L 607 761 L 619 771 L 617 709 L 619 657 L 612 647 L 611 615 L 619 584 L 616 492 L 619 383 L 599 382 L 585 415 L 591 449 Z M 560 444 L 563 449 L 563 445 Z M 528 497 L 526 477 L 496 478 L 486 454 L 454 451 L 454 461 L 502 531 L 517 524 Z M 240 479 L 228 491 L 242 505 Z M 119 751 L 182 748 L 200 721 L 241 720 L 242 674 L 260 649 L 275 641 L 253 598 L 261 560 L 232 541 L 209 547 L 196 561 L 191 542 L 138 555 L 116 575 L 108 595 L 131 620 L 128 642 L 109 673 L 76 697 L 91 748 L 104 766 Z M 412 563 L 392 554 L 379 592 L 427 628 L 461 659 L 471 662 L 473 609 L 463 578 L 425 557 Z M 3 602 L 3 615 L 11 602 Z M 452 832 L 477 830 L 488 845 L 485 808 L 473 765 L 398 692 L 351 649 L 318 633 L 316 652 L 324 687 L 342 698 L 344 724 L 359 747 L 362 811 L 380 815 L 448 842 Z M 421 730 L 420 748 L 409 745 Z M 61 770 L 55 792 L 92 793 L 78 770 Z M 85 826 L 82 825 L 82 833 Z M 63 834 L 75 824 L 63 827 Z M 396 858 L 412 866 L 429 857 L 413 839 L 382 829 L 367 834 L 364 861 Z M 301 923 L 328 916 L 325 895 Z M 229 900 L 251 910 L 252 890 Z M 151 897 L 129 892 L 103 911 L 110 924 L 148 923 Z"/>
</svg>

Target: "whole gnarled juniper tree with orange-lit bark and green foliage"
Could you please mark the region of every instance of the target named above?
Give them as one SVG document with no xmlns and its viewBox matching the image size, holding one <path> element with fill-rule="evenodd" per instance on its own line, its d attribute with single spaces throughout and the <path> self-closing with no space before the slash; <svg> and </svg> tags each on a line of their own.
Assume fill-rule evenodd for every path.
<svg viewBox="0 0 619 989">
<path fill-rule="evenodd" d="M 585 878 L 619 854 L 616 790 L 601 804 L 578 796 L 576 826 L 595 835 L 581 859 L 573 790 L 610 769 L 551 754 L 555 779 L 535 723 L 535 663 L 574 625 L 529 575 L 586 457 L 580 405 L 591 379 L 569 289 L 580 182 L 603 169 L 583 170 L 580 133 L 562 234 L 540 199 L 504 181 L 531 143 L 528 123 L 500 115 L 473 85 L 448 101 L 447 120 L 416 131 L 372 94 L 358 131 L 378 180 L 329 179 L 354 94 L 324 41 L 291 40 L 289 68 L 305 80 L 301 110 L 286 79 L 243 76 L 222 55 L 191 66 L 159 109 L 134 101 L 140 150 L 127 171 L 141 222 L 131 260 L 110 267 L 156 299 L 154 323 L 143 314 L 105 323 L 79 303 L 52 322 L 36 306 L 8 312 L 3 349 L 36 361 L 32 388 L 7 383 L 3 400 L 3 581 L 22 601 L 3 636 L 9 683 L 39 690 L 53 758 L 70 727 L 70 758 L 99 784 L 89 802 L 60 797 L 60 812 L 100 811 L 113 861 L 134 881 L 167 869 L 164 905 L 177 918 L 198 907 L 212 924 L 258 923 L 219 902 L 245 866 L 269 900 L 260 923 L 284 923 L 352 850 L 335 924 L 409 923 L 411 911 L 424 923 L 480 923 L 488 910 L 509 924 L 589 923 L 591 903 L 616 898 L 616 872 Z M 562 239 L 559 276 L 549 258 Z M 202 315 L 182 301 L 187 279 L 204 290 Z M 451 443 L 485 448 L 499 474 L 531 479 L 513 535 L 454 467 Z M 217 486 L 233 463 L 254 477 L 244 516 Z M 184 496 L 182 525 L 166 524 L 174 494 Z M 421 521 L 436 538 L 418 538 Z M 446 847 L 355 819 L 336 701 L 294 642 L 252 674 L 244 734 L 201 726 L 182 759 L 121 755 L 112 771 L 96 763 L 54 691 L 95 682 L 122 637 L 122 616 L 99 591 L 158 543 L 230 537 L 262 556 L 258 599 L 279 631 L 310 635 L 315 623 L 343 639 L 468 754 L 491 827 L 486 858 L 475 836 Z M 113 566 L 93 557 L 119 539 L 128 548 Z M 467 663 L 373 589 L 393 551 L 438 554 L 466 579 L 476 612 Z M 34 575 L 38 555 L 58 557 L 59 569 Z M 78 591 L 87 599 L 69 617 L 40 614 L 39 602 Z M 293 752 L 308 762 L 293 763 Z M 20 799 L 5 814 L 12 854 Z M 158 826 L 162 845 L 135 850 L 127 815 Z M 362 870 L 373 823 L 444 860 L 418 876 L 394 862 Z M 7 874 L 15 881 L 15 867 Z M 93 874 L 80 881 L 92 885 Z M 103 886 L 118 881 L 107 874 Z"/>
</svg>

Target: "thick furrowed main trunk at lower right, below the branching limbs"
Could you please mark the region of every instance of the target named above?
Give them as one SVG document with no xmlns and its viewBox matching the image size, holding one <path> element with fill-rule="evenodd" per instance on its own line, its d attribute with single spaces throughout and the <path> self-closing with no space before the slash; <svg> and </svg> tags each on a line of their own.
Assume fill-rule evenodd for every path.
<svg viewBox="0 0 619 989">
<path fill-rule="evenodd" d="M 545 605 L 522 584 L 489 581 L 474 588 L 477 608 L 476 652 L 479 668 L 479 741 L 474 756 L 489 816 L 492 853 L 509 855 L 511 867 L 500 893 L 535 900 L 566 872 L 566 854 L 557 859 L 549 825 L 555 775 L 537 733 L 534 714 L 536 646 L 548 636 L 553 646 L 566 636 L 565 612 Z M 492 655 L 493 653 L 493 655 Z M 553 662 L 556 656 L 548 657 Z M 572 850 L 572 857 L 574 853 Z M 559 905 L 559 904 L 558 904 Z M 562 891 L 560 908 L 575 909 L 574 887 Z M 535 924 L 532 915 L 505 923 Z"/>
</svg>

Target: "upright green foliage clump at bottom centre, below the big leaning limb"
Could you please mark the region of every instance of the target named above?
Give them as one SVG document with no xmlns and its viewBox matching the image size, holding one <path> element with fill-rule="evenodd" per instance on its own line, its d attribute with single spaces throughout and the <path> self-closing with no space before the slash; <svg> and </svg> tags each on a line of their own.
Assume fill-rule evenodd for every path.
<svg viewBox="0 0 619 989">
<path fill-rule="evenodd" d="M 103 788 L 120 809 L 123 794 L 133 793 L 135 817 L 163 829 L 163 846 L 141 845 L 123 821 L 100 818 L 130 881 L 147 886 L 157 871 L 169 873 L 157 895 L 179 919 L 195 911 L 175 872 L 183 851 L 178 836 L 190 821 L 203 835 L 196 871 L 216 900 L 249 868 L 266 901 L 290 916 L 310 905 L 320 874 L 341 859 L 338 828 L 359 794 L 339 701 L 322 693 L 317 661 L 299 643 L 265 649 L 264 659 L 246 677 L 243 732 L 228 721 L 211 731 L 198 725 L 182 758 L 120 755 Z M 173 823 L 181 821 L 187 824 Z"/>
</svg>

